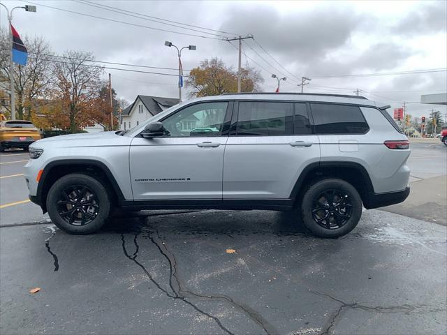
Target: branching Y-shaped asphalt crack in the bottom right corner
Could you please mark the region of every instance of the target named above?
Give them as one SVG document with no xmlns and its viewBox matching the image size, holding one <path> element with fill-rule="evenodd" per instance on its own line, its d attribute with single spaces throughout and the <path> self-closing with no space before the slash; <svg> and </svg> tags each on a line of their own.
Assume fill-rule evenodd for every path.
<svg viewBox="0 0 447 335">
<path fill-rule="evenodd" d="M 322 297 L 328 297 L 329 299 L 337 301 L 339 304 L 341 304 L 339 306 L 339 308 L 337 309 L 337 311 L 332 313 L 332 317 L 330 318 L 330 320 L 328 320 L 328 322 L 326 322 L 327 326 L 325 327 L 325 329 L 323 330 L 323 332 L 320 335 L 328 335 L 329 334 L 330 329 L 332 329 L 332 327 L 335 326 L 335 322 L 336 322 L 337 318 L 339 318 L 339 316 L 342 315 L 342 311 L 345 308 L 361 309 L 362 311 L 376 311 L 377 313 L 405 313 L 405 312 L 419 311 L 420 309 L 423 309 L 424 307 L 430 307 L 427 305 L 413 306 L 413 305 L 409 305 L 409 304 L 403 304 L 403 305 L 398 305 L 398 306 L 365 306 L 365 305 L 357 304 L 357 303 L 346 304 L 346 302 L 344 302 L 340 299 L 337 299 L 335 297 L 332 297 L 331 295 L 328 295 L 326 293 L 321 293 L 321 292 L 318 292 L 315 290 L 309 290 L 309 292 L 312 292 L 315 295 L 320 295 Z M 428 311 L 429 312 L 439 312 L 439 311 L 445 311 L 445 310 L 441 309 L 441 308 L 430 308 Z"/>
</svg>

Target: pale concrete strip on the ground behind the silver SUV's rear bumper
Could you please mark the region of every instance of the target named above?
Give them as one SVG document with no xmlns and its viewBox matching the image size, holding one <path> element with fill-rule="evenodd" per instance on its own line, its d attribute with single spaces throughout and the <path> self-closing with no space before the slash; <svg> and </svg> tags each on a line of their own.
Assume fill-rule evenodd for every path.
<svg viewBox="0 0 447 335">
<path fill-rule="evenodd" d="M 447 175 L 410 183 L 409 197 L 380 210 L 447 225 Z"/>
</svg>

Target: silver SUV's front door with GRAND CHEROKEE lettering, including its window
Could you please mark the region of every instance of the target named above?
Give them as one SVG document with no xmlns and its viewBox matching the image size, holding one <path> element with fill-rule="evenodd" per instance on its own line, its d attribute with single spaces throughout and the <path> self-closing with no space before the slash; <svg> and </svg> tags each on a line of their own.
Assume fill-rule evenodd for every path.
<svg viewBox="0 0 447 335">
<path fill-rule="evenodd" d="M 221 200 L 228 105 L 226 101 L 188 105 L 161 120 L 163 137 L 133 139 L 134 200 Z"/>
</svg>

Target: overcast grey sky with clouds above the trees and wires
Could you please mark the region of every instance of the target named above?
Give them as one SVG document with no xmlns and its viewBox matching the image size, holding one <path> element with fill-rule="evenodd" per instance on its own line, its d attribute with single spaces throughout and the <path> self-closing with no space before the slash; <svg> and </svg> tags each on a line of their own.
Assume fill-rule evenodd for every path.
<svg viewBox="0 0 447 335">
<path fill-rule="evenodd" d="M 447 91 L 445 71 L 370 77 L 346 75 L 447 68 L 447 1 L 96 1 L 214 29 L 207 31 L 211 34 L 115 13 L 80 1 L 0 2 L 9 8 L 36 3 L 37 13 L 15 10 L 13 24 L 22 36 L 43 36 L 52 45 L 54 54 L 85 50 L 93 52 L 100 61 L 176 68 L 174 48 L 164 46 L 165 40 L 170 40 L 179 47 L 197 45 L 196 51 L 182 52 L 184 69 L 212 57 L 219 57 L 236 68 L 237 50 L 221 36 L 253 34 L 256 42 L 281 64 L 253 40 L 243 44 L 247 57 L 242 55 L 242 64 L 261 70 L 264 91 L 276 89 L 272 73 L 287 77 L 286 82 L 281 82 L 281 91 L 288 92 L 300 91 L 297 84 L 302 76 L 307 76 L 312 78 L 311 84 L 305 87 L 307 92 L 353 94 L 354 89 L 361 89 L 363 96 L 393 103 L 393 107 L 409 102 L 408 112 L 413 116 L 427 116 L 432 108 L 441 110 L 443 116 L 446 113 L 446 106 L 415 103 L 420 101 L 421 94 Z M 211 38 L 135 27 L 43 5 Z M 0 7 L 0 22 L 1 27 L 7 27 L 3 7 Z M 176 73 L 175 70 L 142 70 Z M 112 86 L 118 96 L 129 102 L 138 94 L 178 96 L 177 77 L 106 71 L 112 73 Z"/>
</svg>

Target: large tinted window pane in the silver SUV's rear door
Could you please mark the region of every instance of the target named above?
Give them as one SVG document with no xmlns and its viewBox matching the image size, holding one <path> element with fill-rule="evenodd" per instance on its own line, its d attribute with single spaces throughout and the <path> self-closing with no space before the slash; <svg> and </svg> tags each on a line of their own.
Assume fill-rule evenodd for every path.
<svg viewBox="0 0 447 335">
<path fill-rule="evenodd" d="M 237 135 L 291 135 L 292 112 L 292 103 L 240 102 Z"/>
</svg>

